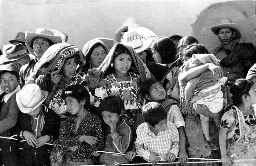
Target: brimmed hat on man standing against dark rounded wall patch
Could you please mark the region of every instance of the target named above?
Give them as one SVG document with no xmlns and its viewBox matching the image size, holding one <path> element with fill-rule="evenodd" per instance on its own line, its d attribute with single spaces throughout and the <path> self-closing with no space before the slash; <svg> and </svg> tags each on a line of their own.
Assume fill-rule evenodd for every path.
<svg viewBox="0 0 256 166">
<path fill-rule="evenodd" d="M 218 24 L 216 26 L 212 26 L 211 30 L 214 34 L 218 35 L 220 28 L 232 28 L 236 32 L 236 35 L 234 38 L 239 39 L 241 37 L 241 33 L 240 33 L 239 29 L 236 27 L 236 24 L 232 23 L 232 21 L 229 19 L 222 19 L 220 21 L 220 24 Z"/>
</svg>

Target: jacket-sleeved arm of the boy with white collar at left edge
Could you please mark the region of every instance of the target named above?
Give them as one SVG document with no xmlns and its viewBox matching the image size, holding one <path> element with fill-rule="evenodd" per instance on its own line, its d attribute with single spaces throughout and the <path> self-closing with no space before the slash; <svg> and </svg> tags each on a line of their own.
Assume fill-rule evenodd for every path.
<svg viewBox="0 0 256 166">
<path fill-rule="evenodd" d="M 12 128 L 17 123 L 20 109 L 17 105 L 15 97 L 16 97 L 15 94 L 13 94 L 10 97 L 10 106 L 8 110 L 8 115 L 0 122 L 0 133 Z"/>
</svg>

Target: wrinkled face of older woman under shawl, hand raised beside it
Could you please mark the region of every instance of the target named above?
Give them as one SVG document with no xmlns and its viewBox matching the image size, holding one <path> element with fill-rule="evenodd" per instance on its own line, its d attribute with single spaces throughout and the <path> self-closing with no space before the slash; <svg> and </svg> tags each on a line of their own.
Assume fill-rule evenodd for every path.
<svg viewBox="0 0 256 166">
<path fill-rule="evenodd" d="M 77 61 L 76 58 L 65 60 L 64 65 L 61 69 L 61 73 L 68 78 L 72 78 L 76 74 Z"/>
</svg>

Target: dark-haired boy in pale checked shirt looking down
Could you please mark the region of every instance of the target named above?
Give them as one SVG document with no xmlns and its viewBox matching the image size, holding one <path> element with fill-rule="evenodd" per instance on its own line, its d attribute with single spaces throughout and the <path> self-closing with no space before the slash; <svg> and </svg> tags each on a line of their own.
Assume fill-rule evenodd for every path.
<svg viewBox="0 0 256 166">
<path fill-rule="evenodd" d="M 157 102 L 149 102 L 142 108 L 145 122 L 136 130 L 135 148 L 146 161 L 172 162 L 176 159 L 180 139 L 179 132 L 172 122 L 167 121 L 167 113 Z"/>
</svg>

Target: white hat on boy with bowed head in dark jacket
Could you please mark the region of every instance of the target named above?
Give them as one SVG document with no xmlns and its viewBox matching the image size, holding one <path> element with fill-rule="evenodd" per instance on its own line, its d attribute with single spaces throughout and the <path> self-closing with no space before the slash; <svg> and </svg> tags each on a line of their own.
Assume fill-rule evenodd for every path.
<svg viewBox="0 0 256 166">
<path fill-rule="evenodd" d="M 46 99 L 47 91 L 36 84 L 27 84 L 16 94 L 16 102 L 21 112 L 27 114 L 37 109 Z"/>
</svg>

